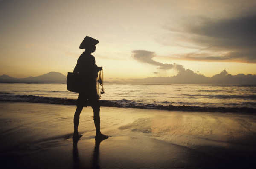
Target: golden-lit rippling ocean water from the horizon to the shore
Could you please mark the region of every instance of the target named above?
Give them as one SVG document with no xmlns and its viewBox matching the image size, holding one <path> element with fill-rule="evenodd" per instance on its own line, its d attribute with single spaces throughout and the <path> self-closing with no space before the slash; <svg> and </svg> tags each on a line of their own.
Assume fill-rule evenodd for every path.
<svg viewBox="0 0 256 169">
<path fill-rule="evenodd" d="M 105 106 L 256 109 L 256 86 L 104 84 L 104 89 Z M 66 84 L 0 83 L 0 101 L 74 104 L 77 97 Z"/>
</svg>

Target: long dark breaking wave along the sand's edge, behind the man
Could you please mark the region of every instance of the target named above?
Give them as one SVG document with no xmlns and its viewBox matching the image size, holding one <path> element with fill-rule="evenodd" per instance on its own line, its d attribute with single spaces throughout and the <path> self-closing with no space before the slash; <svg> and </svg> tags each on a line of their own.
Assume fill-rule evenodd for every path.
<svg viewBox="0 0 256 169">
<path fill-rule="evenodd" d="M 32 102 L 32 103 L 48 103 L 62 105 L 76 105 L 76 99 L 44 97 L 34 95 L 0 95 L 0 101 L 3 102 Z M 254 102 L 253 102 L 254 103 Z M 209 107 L 209 106 L 174 106 L 161 104 L 145 104 L 137 103 L 134 100 L 100 100 L 101 106 L 108 107 L 126 107 L 139 109 L 160 109 L 175 111 L 197 111 L 197 112 L 246 112 L 255 113 L 256 109 L 251 107 Z M 235 105 L 234 105 L 235 106 Z"/>
</svg>

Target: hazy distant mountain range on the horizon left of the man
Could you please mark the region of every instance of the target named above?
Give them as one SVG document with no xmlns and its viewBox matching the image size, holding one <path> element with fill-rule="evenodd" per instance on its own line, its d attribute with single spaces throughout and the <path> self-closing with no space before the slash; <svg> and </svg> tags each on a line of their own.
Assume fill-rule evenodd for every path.
<svg viewBox="0 0 256 169">
<path fill-rule="evenodd" d="M 0 76 L 2 83 L 66 83 L 67 77 L 59 72 L 49 72 L 36 77 L 13 78 L 6 74 Z"/>
</svg>

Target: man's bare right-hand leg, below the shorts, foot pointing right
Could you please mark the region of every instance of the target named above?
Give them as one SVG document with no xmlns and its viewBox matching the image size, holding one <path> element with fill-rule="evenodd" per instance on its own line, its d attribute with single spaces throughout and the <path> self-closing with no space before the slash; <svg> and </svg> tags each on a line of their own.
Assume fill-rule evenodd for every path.
<svg viewBox="0 0 256 169">
<path fill-rule="evenodd" d="M 96 129 L 95 139 L 99 139 L 99 140 L 107 139 L 108 136 L 103 135 L 100 132 L 99 106 L 92 106 L 92 108 L 93 108 L 93 120 L 94 120 L 95 129 Z"/>
</svg>

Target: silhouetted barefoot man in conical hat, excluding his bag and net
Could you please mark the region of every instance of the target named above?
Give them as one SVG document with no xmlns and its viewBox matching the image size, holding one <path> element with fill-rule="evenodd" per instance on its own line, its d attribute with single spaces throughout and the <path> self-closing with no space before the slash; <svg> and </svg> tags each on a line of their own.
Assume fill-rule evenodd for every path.
<svg viewBox="0 0 256 169">
<path fill-rule="evenodd" d="M 79 139 L 82 135 L 78 133 L 79 116 L 84 106 L 87 106 L 89 102 L 93 108 L 93 120 L 96 128 L 97 140 L 107 139 L 107 135 L 103 135 L 100 131 L 100 117 L 99 117 L 99 96 L 96 89 L 96 78 L 98 77 L 98 72 L 102 70 L 102 67 L 98 67 L 95 64 L 95 58 L 91 53 L 95 52 L 96 44 L 99 41 L 91 37 L 86 36 L 79 46 L 80 49 L 85 49 L 85 51 L 80 55 L 77 60 L 74 73 L 79 74 L 79 95 L 76 103 L 76 112 L 74 115 L 74 135 L 73 139 Z"/>
</svg>

